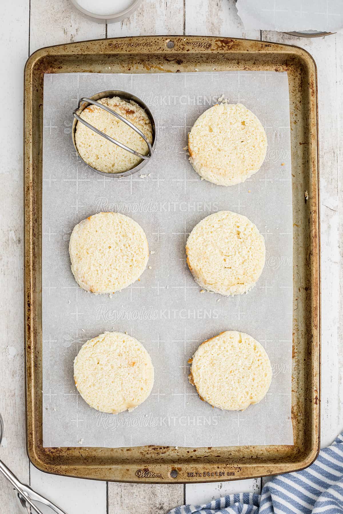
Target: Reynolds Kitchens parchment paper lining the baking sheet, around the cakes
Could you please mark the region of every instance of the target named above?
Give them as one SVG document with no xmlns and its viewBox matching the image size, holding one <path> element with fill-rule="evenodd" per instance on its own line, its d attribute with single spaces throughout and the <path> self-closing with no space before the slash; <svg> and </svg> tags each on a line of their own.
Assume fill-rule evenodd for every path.
<svg viewBox="0 0 343 514">
<path fill-rule="evenodd" d="M 131 177 L 92 172 L 71 141 L 77 100 L 106 89 L 130 91 L 155 117 L 154 156 Z M 196 118 L 222 95 L 250 108 L 268 138 L 261 170 L 230 188 L 201 180 L 183 150 Z M 45 75 L 43 446 L 293 444 L 290 149 L 285 73 Z M 266 242 L 266 265 L 256 287 L 229 298 L 200 293 L 184 250 L 194 225 L 224 209 L 248 216 Z M 68 241 L 81 219 L 110 210 L 133 217 L 155 253 L 148 263 L 152 269 L 146 269 L 140 282 L 111 297 L 95 296 L 79 288 L 71 274 Z M 187 380 L 187 361 L 198 344 L 226 329 L 259 340 L 273 366 L 268 394 L 244 412 L 213 409 Z M 112 330 L 140 340 L 155 368 L 150 397 L 133 412 L 119 415 L 89 408 L 73 380 L 73 360 L 81 345 Z"/>
</svg>

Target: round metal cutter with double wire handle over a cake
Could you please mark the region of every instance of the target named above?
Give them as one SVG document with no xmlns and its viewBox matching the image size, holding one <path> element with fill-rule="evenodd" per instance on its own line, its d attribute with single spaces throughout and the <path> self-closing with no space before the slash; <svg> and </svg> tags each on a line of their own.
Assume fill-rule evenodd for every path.
<svg viewBox="0 0 343 514">
<path fill-rule="evenodd" d="M 98 102 L 98 100 L 101 100 L 102 98 L 113 98 L 115 96 L 121 98 L 122 100 L 126 100 L 126 101 L 133 100 L 140 107 L 142 107 L 142 109 L 145 110 L 145 112 L 148 115 L 149 121 L 151 123 L 152 143 L 150 143 L 150 141 L 146 137 L 146 135 L 143 134 L 139 130 L 139 128 L 136 127 L 136 125 L 131 123 L 131 121 L 123 118 L 122 116 L 120 116 L 120 114 L 118 114 L 115 111 L 113 111 L 112 109 L 110 109 L 110 107 L 107 107 L 106 105 L 103 105 L 102 103 Z M 98 130 L 98 128 L 96 128 L 95 126 L 91 125 L 90 123 L 88 123 L 87 121 L 82 119 L 80 117 L 80 114 L 82 113 L 82 111 L 86 107 L 88 107 L 89 105 L 92 105 L 92 104 L 93 105 L 97 105 L 98 107 L 104 109 L 104 111 L 107 111 L 107 113 L 113 114 L 116 118 L 118 118 L 119 120 L 121 120 L 122 122 L 127 124 L 130 128 L 132 128 L 132 130 L 137 132 L 137 134 L 139 134 L 140 137 L 142 139 L 144 139 L 145 142 L 147 143 L 148 150 L 149 150 L 148 155 L 142 155 L 139 152 L 136 152 L 136 150 L 133 150 L 132 148 L 129 148 L 129 146 L 126 146 L 125 144 L 121 143 L 120 141 L 117 141 L 116 139 L 113 139 L 112 137 L 108 136 L 107 134 L 104 134 L 103 132 Z M 155 150 L 155 145 L 156 145 L 156 124 L 155 124 L 154 117 L 153 117 L 149 107 L 142 100 L 140 100 L 140 98 L 137 98 L 135 95 L 132 95 L 131 93 L 127 93 L 126 91 L 114 91 L 114 90 L 111 90 L 111 91 L 101 91 L 101 93 L 97 93 L 96 95 L 93 95 L 93 96 L 91 96 L 89 98 L 80 98 L 80 100 L 78 102 L 78 106 L 77 106 L 77 108 L 73 112 L 73 116 L 74 116 L 74 121 L 73 121 L 73 125 L 71 127 L 71 138 L 73 139 L 74 148 L 75 148 L 78 156 L 80 157 L 80 159 L 85 164 L 87 164 L 88 168 L 91 168 L 91 170 L 95 171 L 96 173 L 99 173 L 100 175 L 104 175 L 106 177 L 126 177 L 126 176 L 129 176 L 129 175 L 133 175 L 137 171 L 141 170 L 147 164 L 147 162 L 149 162 L 149 160 L 151 159 L 151 157 L 152 157 L 152 155 L 154 153 L 154 150 Z M 120 146 L 120 148 L 122 148 L 123 150 L 126 150 L 127 152 L 130 152 L 133 155 L 136 155 L 137 157 L 142 159 L 141 162 L 139 162 L 137 164 L 137 166 L 135 166 L 131 170 L 127 170 L 127 171 L 119 172 L 119 173 L 106 173 L 104 171 L 100 171 L 100 170 L 97 170 L 96 168 L 93 168 L 92 166 L 90 166 L 81 157 L 81 155 L 79 153 L 79 150 L 77 148 L 76 142 L 75 142 L 76 125 L 77 125 L 78 122 L 83 123 L 88 128 L 90 128 L 91 130 L 93 130 L 94 132 L 99 134 L 99 136 L 104 137 L 108 141 L 111 141 L 111 143 L 116 144 L 117 146 Z"/>
</svg>

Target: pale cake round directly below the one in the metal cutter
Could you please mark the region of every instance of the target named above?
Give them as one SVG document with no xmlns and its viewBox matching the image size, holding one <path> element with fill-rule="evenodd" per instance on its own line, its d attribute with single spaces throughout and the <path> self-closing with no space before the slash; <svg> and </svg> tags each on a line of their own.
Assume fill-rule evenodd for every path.
<svg viewBox="0 0 343 514">
<path fill-rule="evenodd" d="M 114 293 L 139 279 L 149 248 L 146 234 L 132 218 L 100 212 L 74 227 L 69 254 L 71 271 L 83 289 Z"/>
</svg>

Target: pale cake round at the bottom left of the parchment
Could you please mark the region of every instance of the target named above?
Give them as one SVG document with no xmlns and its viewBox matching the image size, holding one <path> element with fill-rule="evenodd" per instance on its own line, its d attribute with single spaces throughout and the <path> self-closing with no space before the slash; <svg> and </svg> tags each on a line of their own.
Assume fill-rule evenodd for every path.
<svg viewBox="0 0 343 514">
<path fill-rule="evenodd" d="M 74 381 L 89 406 L 118 414 L 135 409 L 148 398 L 154 368 L 137 339 L 105 332 L 81 347 L 74 360 Z"/>
</svg>

